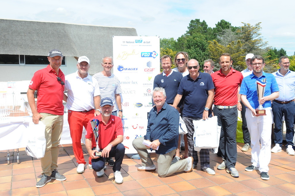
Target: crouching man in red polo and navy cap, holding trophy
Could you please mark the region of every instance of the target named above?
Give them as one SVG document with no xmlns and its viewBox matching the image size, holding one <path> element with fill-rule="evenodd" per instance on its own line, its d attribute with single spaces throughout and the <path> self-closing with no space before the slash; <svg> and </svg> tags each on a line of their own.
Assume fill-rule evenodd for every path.
<svg viewBox="0 0 295 196">
<path fill-rule="evenodd" d="M 115 157 L 113 171 L 115 183 L 122 184 L 123 177 L 121 175 L 121 164 L 123 161 L 125 147 L 123 142 L 123 124 L 121 118 L 111 115 L 113 111 L 113 101 L 111 98 L 101 99 L 100 110 L 101 114 L 89 120 L 86 128 L 86 148 L 89 156 L 92 158 L 92 168 L 96 171 L 97 177 L 104 176 L 104 165 L 106 158 Z M 91 122 L 95 122 L 95 127 L 92 127 Z M 101 149 L 101 156 L 96 156 L 95 150 L 96 138 L 93 131 L 98 126 L 98 145 Z"/>
</svg>

